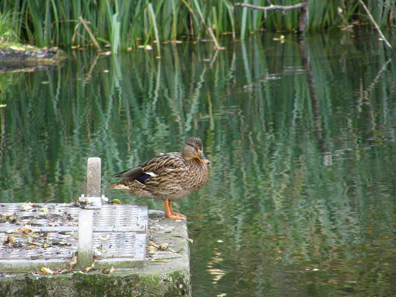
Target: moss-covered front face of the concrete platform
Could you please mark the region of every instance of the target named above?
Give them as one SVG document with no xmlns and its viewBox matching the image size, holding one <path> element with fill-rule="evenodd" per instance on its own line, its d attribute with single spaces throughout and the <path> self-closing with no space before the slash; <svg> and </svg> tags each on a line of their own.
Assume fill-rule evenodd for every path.
<svg viewBox="0 0 396 297">
<path fill-rule="evenodd" d="M 189 297 L 186 271 L 163 275 L 74 273 L 71 275 L 1 277 L 4 297 Z"/>
</svg>

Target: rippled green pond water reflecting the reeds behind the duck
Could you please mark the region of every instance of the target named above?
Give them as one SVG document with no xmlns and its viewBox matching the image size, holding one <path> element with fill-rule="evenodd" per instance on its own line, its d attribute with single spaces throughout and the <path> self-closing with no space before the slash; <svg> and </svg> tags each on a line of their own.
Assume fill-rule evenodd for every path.
<svg viewBox="0 0 396 297">
<path fill-rule="evenodd" d="M 366 28 L 162 44 L 0 74 L 0 202 L 70 202 L 87 158 L 111 174 L 202 139 L 189 217 L 194 297 L 394 296 L 396 58 Z M 6 106 L 4 106 L 6 104 Z"/>
</svg>

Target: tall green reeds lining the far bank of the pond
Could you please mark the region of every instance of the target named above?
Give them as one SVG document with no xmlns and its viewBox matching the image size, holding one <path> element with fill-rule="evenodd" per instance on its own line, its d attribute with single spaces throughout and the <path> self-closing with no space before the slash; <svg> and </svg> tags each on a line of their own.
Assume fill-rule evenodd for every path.
<svg viewBox="0 0 396 297">
<path fill-rule="evenodd" d="M 256 6 L 267 0 L 4 0 L 0 13 L 12 15 L 10 29 L 24 42 L 38 46 L 96 43 L 111 45 L 117 52 L 156 41 L 218 39 L 236 33 L 240 39 L 262 29 L 297 30 L 299 10 L 248 9 L 237 2 Z M 377 24 L 396 24 L 395 1 L 365 0 Z M 273 0 L 275 5 L 292 5 L 298 0 Z M 339 8 L 343 15 L 339 15 Z M 358 0 L 310 0 L 307 29 L 335 28 L 343 19 L 367 22 Z"/>
</svg>

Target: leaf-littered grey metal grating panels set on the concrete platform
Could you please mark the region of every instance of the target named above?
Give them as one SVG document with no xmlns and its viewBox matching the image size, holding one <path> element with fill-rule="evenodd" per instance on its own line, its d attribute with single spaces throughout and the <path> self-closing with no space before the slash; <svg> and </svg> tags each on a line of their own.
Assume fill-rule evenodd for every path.
<svg viewBox="0 0 396 297">
<path fill-rule="evenodd" d="M 78 248 L 78 215 L 85 209 L 71 204 L 38 203 L 25 210 L 23 205 L 26 206 L 23 203 L 0 204 L 2 217 L 13 213 L 17 217 L 13 223 L 0 222 L 0 268 L 30 270 L 34 265 L 67 266 L 72 252 Z M 148 226 L 147 206 L 104 204 L 101 209 L 91 211 L 94 213 L 93 248 L 98 248 L 99 258 L 109 256 L 100 260 L 99 265 L 142 266 Z M 7 243 L 8 235 L 12 244 Z M 107 236 L 105 241 L 99 239 Z"/>
</svg>

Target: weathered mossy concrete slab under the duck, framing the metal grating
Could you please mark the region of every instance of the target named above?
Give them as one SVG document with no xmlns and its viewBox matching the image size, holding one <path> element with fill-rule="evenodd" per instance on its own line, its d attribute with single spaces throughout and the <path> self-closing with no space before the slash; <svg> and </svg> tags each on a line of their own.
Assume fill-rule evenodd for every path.
<svg viewBox="0 0 396 297">
<path fill-rule="evenodd" d="M 103 274 L 97 263 L 88 273 L 34 275 L 0 272 L 0 296 L 26 297 L 190 297 L 190 249 L 187 223 L 164 218 L 161 211 L 150 211 L 149 240 L 169 248 L 148 250 L 142 268 L 115 268 Z M 95 238 L 95 235 L 94 235 Z M 94 242 L 95 246 L 95 242 Z M 164 245 L 165 246 L 165 245 Z M 152 247 L 152 246 L 149 246 Z M 155 248 L 154 248 L 155 249 Z M 110 268 L 110 267 L 108 267 Z"/>
</svg>

